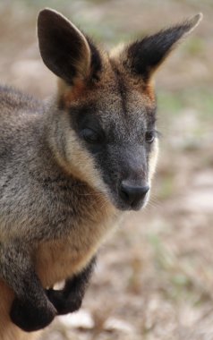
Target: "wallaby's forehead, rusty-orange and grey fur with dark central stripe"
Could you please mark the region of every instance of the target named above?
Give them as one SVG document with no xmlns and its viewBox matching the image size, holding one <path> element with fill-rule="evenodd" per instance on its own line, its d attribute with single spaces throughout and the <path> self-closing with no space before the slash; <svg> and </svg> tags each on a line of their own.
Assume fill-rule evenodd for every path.
<svg viewBox="0 0 213 340">
<path fill-rule="evenodd" d="M 155 96 L 152 87 L 132 79 L 122 66 L 107 61 L 96 83 L 81 87 L 81 83 L 67 94 L 71 111 L 77 113 L 79 123 L 90 127 L 100 125 L 106 132 L 120 135 L 137 134 L 155 121 Z M 72 102 L 72 99 L 77 100 Z"/>
</svg>

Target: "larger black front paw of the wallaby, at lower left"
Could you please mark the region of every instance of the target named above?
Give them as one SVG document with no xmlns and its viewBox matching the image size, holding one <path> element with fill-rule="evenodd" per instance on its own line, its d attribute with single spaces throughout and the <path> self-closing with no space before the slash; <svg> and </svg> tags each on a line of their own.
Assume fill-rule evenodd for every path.
<svg viewBox="0 0 213 340">
<path fill-rule="evenodd" d="M 46 306 L 38 307 L 30 302 L 13 301 L 10 317 L 13 323 L 25 332 L 32 332 L 47 327 L 55 318 L 54 306 L 47 302 Z"/>
</svg>

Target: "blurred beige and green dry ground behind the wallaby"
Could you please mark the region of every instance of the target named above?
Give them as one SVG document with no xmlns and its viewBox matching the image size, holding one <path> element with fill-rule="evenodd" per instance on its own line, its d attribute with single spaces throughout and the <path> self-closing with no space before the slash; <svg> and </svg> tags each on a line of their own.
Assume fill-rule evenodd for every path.
<svg viewBox="0 0 213 340">
<path fill-rule="evenodd" d="M 36 20 L 58 10 L 107 48 L 202 12 L 157 75 L 160 155 L 149 206 L 99 251 L 78 313 L 42 340 L 213 339 L 213 1 L 1 0 L 0 82 L 37 98 L 55 91 Z"/>
</svg>

